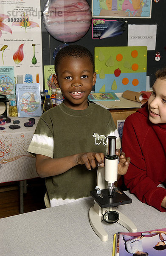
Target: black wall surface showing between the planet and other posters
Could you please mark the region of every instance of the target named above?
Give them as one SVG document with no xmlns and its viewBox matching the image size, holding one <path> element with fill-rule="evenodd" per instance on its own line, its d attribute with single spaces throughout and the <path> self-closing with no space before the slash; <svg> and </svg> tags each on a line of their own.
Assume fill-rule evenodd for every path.
<svg viewBox="0 0 166 256">
<path fill-rule="evenodd" d="M 46 0 L 41 0 L 41 11 L 45 6 Z M 91 0 L 87 0 L 91 7 Z M 110 19 L 110 18 L 105 18 Z M 112 18 L 111 18 L 112 19 Z M 117 20 L 112 19 L 112 20 Z M 155 52 L 148 51 L 147 54 L 147 76 L 150 77 L 150 87 L 152 87 L 155 81 L 155 71 L 162 67 L 166 66 L 166 1 L 160 0 L 160 2 L 155 3 L 152 0 L 152 17 L 151 19 L 140 19 L 140 18 L 129 18 L 129 19 L 120 19 L 127 20 L 125 25 L 125 31 L 122 35 L 105 38 L 105 39 L 92 39 L 92 25 L 90 26 L 87 34 L 81 38 L 79 41 L 68 44 L 79 44 L 87 47 L 94 54 L 94 47 L 102 46 L 127 46 L 128 38 L 128 24 L 157 24 L 157 38 L 156 38 L 156 51 L 160 52 L 160 61 L 155 61 Z M 43 66 L 44 65 L 53 65 L 53 51 L 56 47 L 62 42 L 54 39 L 44 27 L 42 21 L 42 57 L 43 57 Z M 44 74 L 44 72 L 43 72 Z M 44 81 L 44 80 L 43 80 Z"/>
</svg>

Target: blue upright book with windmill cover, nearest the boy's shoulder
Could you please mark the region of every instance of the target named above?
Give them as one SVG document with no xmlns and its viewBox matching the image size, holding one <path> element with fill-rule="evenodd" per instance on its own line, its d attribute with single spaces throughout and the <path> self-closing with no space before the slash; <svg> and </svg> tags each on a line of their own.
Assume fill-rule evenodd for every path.
<svg viewBox="0 0 166 256">
<path fill-rule="evenodd" d="M 18 117 L 42 115 L 40 85 L 16 84 Z"/>
</svg>

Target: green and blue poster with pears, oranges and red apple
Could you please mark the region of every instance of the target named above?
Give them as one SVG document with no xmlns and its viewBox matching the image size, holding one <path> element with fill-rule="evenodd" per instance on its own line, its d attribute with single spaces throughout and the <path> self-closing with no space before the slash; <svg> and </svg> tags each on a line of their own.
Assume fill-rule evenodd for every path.
<svg viewBox="0 0 166 256">
<path fill-rule="evenodd" d="M 95 47 L 95 93 L 146 90 L 147 47 Z"/>
</svg>

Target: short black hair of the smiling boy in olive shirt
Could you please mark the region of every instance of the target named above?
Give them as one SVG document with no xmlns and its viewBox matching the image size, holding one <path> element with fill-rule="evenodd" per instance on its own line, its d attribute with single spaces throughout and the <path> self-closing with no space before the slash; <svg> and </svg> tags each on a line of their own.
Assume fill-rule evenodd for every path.
<svg viewBox="0 0 166 256">
<path fill-rule="evenodd" d="M 55 73 L 57 75 L 58 65 L 62 58 L 64 57 L 74 57 L 74 58 L 84 58 L 88 57 L 93 65 L 93 73 L 95 70 L 94 58 L 92 53 L 85 47 L 77 44 L 72 44 L 63 47 L 55 56 Z"/>
</svg>

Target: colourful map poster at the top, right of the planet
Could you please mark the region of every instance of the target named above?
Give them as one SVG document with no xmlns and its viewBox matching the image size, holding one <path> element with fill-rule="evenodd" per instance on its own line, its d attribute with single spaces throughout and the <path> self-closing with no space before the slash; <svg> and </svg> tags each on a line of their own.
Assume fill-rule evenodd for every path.
<svg viewBox="0 0 166 256">
<path fill-rule="evenodd" d="M 151 18 L 152 0 L 92 0 L 92 16 Z"/>
</svg>

